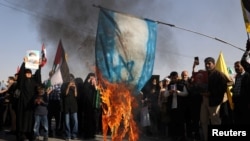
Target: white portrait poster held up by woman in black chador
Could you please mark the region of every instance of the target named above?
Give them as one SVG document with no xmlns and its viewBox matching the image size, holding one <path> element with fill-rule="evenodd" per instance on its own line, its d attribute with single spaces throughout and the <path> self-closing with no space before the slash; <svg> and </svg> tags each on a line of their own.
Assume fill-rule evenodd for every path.
<svg viewBox="0 0 250 141">
<path fill-rule="evenodd" d="M 25 63 L 25 68 L 28 69 L 38 69 L 40 51 L 39 50 L 27 50 L 26 52 L 27 62 Z"/>
</svg>

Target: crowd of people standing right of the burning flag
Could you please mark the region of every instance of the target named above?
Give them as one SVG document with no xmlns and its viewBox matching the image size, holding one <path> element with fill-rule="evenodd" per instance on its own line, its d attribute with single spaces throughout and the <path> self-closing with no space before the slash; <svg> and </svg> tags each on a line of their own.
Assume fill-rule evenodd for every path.
<svg viewBox="0 0 250 141">
<path fill-rule="evenodd" d="M 234 78 L 216 69 L 212 57 L 205 58 L 204 70 L 195 71 L 195 60 L 192 75 L 187 70 L 180 76 L 172 71 L 163 80 L 153 75 L 140 97 L 144 133 L 173 141 L 208 141 L 209 126 L 249 126 L 249 53 L 247 41 L 245 53 L 234 63 Z"/>
</svg>

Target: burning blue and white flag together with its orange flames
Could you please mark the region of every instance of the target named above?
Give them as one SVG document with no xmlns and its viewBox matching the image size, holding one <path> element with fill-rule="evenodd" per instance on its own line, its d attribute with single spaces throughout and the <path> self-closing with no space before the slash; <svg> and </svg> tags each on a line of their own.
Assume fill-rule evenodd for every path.
<svg viewBox="0 0 250 141">
<path fill-rule="evenodd" d="M 133 117 L 133 94 L 152 76 L 157 23 L 100 8 L 96 35 L 96 67 L 103 102 L 103 136 L 113 141 L 139 138 Z"/>
</svg>

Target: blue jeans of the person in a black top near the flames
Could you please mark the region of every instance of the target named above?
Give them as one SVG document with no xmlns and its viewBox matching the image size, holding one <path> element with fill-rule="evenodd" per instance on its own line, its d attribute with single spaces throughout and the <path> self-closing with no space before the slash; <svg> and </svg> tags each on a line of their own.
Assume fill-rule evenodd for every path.
<svg viewBox="0 0 250 141">
<path fill-rule="evenodd" d="M 66 138 L 76 138 L 78 134 L 78 119 L 77 113 L 65 114 L 65 132 Z"/>
</svg>

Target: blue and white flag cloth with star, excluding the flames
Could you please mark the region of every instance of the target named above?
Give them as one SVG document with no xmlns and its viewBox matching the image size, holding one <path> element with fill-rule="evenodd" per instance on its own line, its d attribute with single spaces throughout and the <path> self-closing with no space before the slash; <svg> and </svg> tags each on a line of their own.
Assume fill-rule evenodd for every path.
<svg viewBox="0 0 250 141">
<path fill-rule="evenodd" d="M 140 91 L 152 76 L 156 37 L 156 22 L 100 8 L 98 71 L 111 83 L 126 83 Z"/>
</svg>

